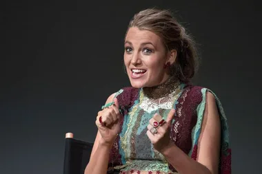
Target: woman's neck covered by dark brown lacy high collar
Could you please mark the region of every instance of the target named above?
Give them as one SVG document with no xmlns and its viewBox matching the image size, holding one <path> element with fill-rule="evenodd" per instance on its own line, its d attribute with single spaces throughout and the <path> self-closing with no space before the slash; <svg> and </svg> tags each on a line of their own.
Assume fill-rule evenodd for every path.
<svg viewBox="0 0 262 174">
<path fill-rule="evenodd" d="M 161 98 L 172 93 L 179 86 L 179 80 L 170 76 L 165 82 L 154 87 L 143 87 L 143 94 L 148 98 Z"/>
</svg>

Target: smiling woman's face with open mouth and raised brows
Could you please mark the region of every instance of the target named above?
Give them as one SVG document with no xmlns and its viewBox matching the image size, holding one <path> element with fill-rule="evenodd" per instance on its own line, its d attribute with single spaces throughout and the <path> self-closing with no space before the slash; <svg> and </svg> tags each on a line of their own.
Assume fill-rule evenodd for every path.
<svg viewBox="0 0 262 174">
<path fill-rule="evenodd" d="M 163 83 L 168 74 L 161 38 L 149 30 L 130 28 L 125 37 L 124 62 L 132 87 L 152 87 Z"/>
</svg>

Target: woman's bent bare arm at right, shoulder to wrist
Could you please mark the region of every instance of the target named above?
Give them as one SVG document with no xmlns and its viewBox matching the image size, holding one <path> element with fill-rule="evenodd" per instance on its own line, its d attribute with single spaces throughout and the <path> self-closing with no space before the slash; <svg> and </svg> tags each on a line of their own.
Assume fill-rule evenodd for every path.
<svg viewBox="0 0 262 174">
<path fill-rule="evenodd" d="M 181 174 L 219 172 L 219 153 L 221 125 L 219 113 L 216 107 L 214 96 L 208 92 L 206 96 L 205 113 L 201 134 L 199 136 L 199 155 L 195 160 L 183 153 L 179 147 L 170 143 L 168 148 L 163 150 L 165 158 Z"/>
</svg>

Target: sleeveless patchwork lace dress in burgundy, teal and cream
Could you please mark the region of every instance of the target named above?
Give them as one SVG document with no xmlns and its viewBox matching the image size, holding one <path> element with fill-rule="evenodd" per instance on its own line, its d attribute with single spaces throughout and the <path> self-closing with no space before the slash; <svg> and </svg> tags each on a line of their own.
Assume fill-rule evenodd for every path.
<svg viewBox="0 0 262 174">
<path fill-rule="evenodd" d="M 196 160 L 207 91 L 210 89 L 181 83 L 165 96 L 149 98 L 143 88 L 120 89 L 114 97 L 118 99 L 123 115 L 121 132 L 110 151 L 108 173 L 177 173 L 165 157 L 154 150 L 146 135 L 149 120 L 154 113 L 159 113 L 165 119 L 173 108 L 176 113 L 172 120 L 170 138 L 185 154 Z M 219 98 L 214 96 L 221 120 L 219 173 L 231 173 L 228 123 Z"/>
</svg>

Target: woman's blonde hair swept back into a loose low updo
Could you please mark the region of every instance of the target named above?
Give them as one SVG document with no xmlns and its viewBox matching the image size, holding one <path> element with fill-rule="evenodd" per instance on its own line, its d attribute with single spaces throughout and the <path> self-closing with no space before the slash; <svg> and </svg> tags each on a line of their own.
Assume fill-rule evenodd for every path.
<svg viewBox="0 0 262 174">
<path fill-rule="evenodd" d="M 177 50 L 177 58 L 171 66 L 171 73 L 181 82 L 188 82 L 198 69 L 198 54 L 196 45 L 185 28 L 175 19 L 170 10 L 150 8 L 142 10 L 128 25 L 140 30 L 150 30 L 159 35 L 165 45 L 166 51 Z"/>
</svg>

